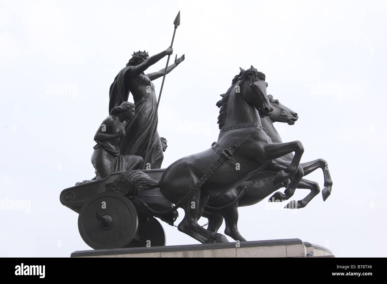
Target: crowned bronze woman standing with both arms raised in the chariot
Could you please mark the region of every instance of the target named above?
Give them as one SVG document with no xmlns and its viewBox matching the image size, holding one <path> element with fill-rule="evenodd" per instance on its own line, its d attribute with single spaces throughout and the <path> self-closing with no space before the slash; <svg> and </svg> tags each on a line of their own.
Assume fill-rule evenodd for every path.
<svg viewBox="0 0 387 284">
<path fill-rule="evenodd" d="M 122 139 L 120 150 L 122 154 L 138 155 L 145 159 L 148 141 L 150 140 L 149 153 L 145 161 L 147 169 L 161 168 L 161 162 L 163 161 L 163 147 L 157 132 L 157 98 L 152 81 L 162 77 L 165 68 L 149 74 L 145 74 L 144 71 L 164 56 L 172 53 L 172 48 L 167 48 L 151 57 L 146 51 L 135 52 L 126 67 L 118 73 L 110 86 L 109 111 L 122 102 L 126 102 L 130 92 L 133 95 L 136 113 L 132 121 L 126 125 L 125 130 L 130 135 Z M 180 58 L 176 56 L 175 62 L 168 66 L 167 73 L 172 71 L 184 59 L 184 55 Z"/>
</svg>

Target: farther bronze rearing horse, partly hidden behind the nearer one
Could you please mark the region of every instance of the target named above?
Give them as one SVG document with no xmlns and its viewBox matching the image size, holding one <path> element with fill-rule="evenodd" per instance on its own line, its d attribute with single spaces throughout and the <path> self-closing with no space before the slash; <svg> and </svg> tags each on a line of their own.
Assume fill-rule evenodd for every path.
<svg viewBox="0 0 387 284">
<path fill-rule="evenodd" d="M 271 116 L 267 116 L 261 119 L 262 126 L 264 126 L 264 128 L 267 130 L 267 134 L 273 143 L 283 143 L 277 130 L 274 128 L 273 123 L 284 122 L 288 123 L 289 125 L 293 125 L 298 120 L 298 114 L 288 107 L 285 107 L 279 102 L 279 100 L 274 99 L 272 95 L 268 95 L 268 98 L 274 108 L 274 111 L 272 112 Z M 281 159 L 290 162 L 293 159 L 293 153 L 289 153 L 281 157 Z M 327 169 L 327 162 L 323 159 L 317 159 L 312 162 L 300 163 L 300 165 L 303 167 L 304 176 L 318 168 L 322 169 L 325 186 L 322 194 L 323 200 L 325 201 L 332 190 L 332 179 L 330 178 L 329 170 Z M 204 213 L 202 214 L 203 217 L 208 219 L 207 230 L 217 233 L 224 219 L 226 223 L 226 229 L 224 230 L 224 233 L 234 240 L 246 241 L 238 231 L 238 207 L 257 204 L 281 187 L 283 187 L 282 184 L 273 184 L 273 178 L 265 178 L 252 180 L 249 182 L 242 182 L 235 189 L 230 190 L 224 194 L 210 195 L 209 202 L 204 208 Z M 245 192 L 245 194 L 241 194 L 243 190 L 247 188 L 248 190 Z M 299 200 L 298 202 L 291 201 L 287 206 L 285 206 L 285 208 L 303 208 L 313 199 L 313 197 L 315 197 L 320 192 L 320 187 L 317 182 L 313 182 L 304 178 L 301 179 L 300 183 L 297 185 L 297 188 L 310 189 L 311 192 L 308 194 L 308 196 L 302 200 Z M 288 195 L 285 194 L 281 196 L 281 194 L 279 194 L 279 197 L 283 198 L 281 201 L 287 200 L 290 197 L 290 194 L 291 193 L 289 192 Z M 277 201 L 276 197 L 278 198 L 276 195 L 272 196 L 269 201 Z"/>
</svg>

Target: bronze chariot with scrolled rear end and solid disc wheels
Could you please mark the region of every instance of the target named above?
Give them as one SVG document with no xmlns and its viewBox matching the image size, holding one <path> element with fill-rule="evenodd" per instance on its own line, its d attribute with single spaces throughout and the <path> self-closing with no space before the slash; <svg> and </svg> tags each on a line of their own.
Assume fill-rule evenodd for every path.
<svg viewBox="0 0 387 284">
<path fill-rule="evenodd" d="M 164 169 L 142 170 L 159 180 Z M 60 202 L 79 213 L 78 229 L 82 239 L 94 249 L 146 247 L 165 245 L 165 233 L 158 217 L 173 225 L 177 211 L 156 214 L 173 208 L 159 188 L 124 196 L 106 190 L 123 172 L 64 189 Z M 144 206 L 144 203 L 147 206 Z"/>
</svg>

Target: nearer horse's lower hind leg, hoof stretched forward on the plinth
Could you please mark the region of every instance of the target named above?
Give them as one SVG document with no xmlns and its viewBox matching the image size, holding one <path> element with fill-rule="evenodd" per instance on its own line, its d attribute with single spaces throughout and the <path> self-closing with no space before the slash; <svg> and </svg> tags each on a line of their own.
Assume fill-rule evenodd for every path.
<svg viewBox="0 0 387 284">
<path fill-rule="evenodd" d="M 183 207 L 185 212 L 184 218 L 178 225 L 178 230 L 187 234 L 188 236 L 191 236 L 195 240 L 200 241 L 201 243 L 228 242 L 226 236 L 206 230 L 197 223 L 199 213 L 199 197 L 200 190 L 186 202 L 185 206 Z"/>
</svg>

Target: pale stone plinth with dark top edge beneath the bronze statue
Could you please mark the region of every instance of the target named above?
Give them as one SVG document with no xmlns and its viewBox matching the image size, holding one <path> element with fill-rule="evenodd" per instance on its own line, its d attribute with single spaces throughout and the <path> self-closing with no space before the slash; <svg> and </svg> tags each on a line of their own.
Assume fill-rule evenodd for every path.
<svg viewBox="0 0 387 284">
<path fill-rule="evenodd" d="M 325 247 L 300 239 L 241 241 L 163 247 L 82 250 L 71 257 L 334 257 Z"/>
</svg>

